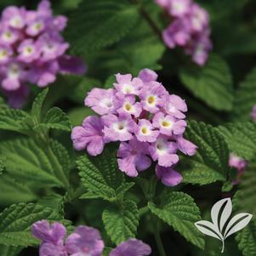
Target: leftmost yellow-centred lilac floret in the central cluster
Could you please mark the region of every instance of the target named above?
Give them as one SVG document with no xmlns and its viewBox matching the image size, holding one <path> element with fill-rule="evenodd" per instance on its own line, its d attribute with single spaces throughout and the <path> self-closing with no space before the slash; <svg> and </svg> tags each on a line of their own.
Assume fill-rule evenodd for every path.
<svg viewBox="0 0 256 256">
<path fill-rule="evenodd" d="M 134 95 L 120 95 L 114 99 L 114 107 L 119 114 L 129 114 L 139 117 L 142 108 L 139 102 L 136 102 Z"/>
</svg>

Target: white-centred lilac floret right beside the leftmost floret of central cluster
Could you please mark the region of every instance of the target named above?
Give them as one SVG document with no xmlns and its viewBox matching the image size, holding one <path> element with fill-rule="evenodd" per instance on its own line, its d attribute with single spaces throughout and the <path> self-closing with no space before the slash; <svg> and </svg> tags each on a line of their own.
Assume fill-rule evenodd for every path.
<svg viewBox="0 0 256 256">
<path fill-rule="evenodd" d="M 108 115 L 102 117 L 104 123 L 103 133 L 108 141 L 127 141 L 133 138 L 134 120 L 131 116 L 121 114 L 119 117 Z"/>
</svg>

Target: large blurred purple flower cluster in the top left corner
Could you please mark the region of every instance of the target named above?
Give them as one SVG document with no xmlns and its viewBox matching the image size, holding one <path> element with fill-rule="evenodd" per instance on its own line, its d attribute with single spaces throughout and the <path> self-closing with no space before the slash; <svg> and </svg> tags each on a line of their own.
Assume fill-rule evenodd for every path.
<svg viewBox="0 0 256 256">
<path fill-rule="evenodd" d="M 9 6 L 0 20 L 0 82 L 9 104 L 20 107 L 29 92 L 27 83 L 45 87 L 58 73 L 82 74 L 80 59 L 65 54 L 69 44 L 60 32 L 65 16 L 53 16 L 48 0 L 37 10 Z"/>
</svg>

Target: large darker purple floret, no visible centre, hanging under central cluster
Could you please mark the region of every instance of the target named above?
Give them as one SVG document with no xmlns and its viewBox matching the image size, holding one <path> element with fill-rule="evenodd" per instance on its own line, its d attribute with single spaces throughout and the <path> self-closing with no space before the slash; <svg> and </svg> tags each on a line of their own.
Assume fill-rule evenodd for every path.
<svg viewBox="0 0 256 256">
<path fill-rule="evenodd" d="M 138 176 L 139 172 L 150 168 L 151 158 L 149 155 L 149 144 L 139 142 L 133 138 L 127 142 L 122 142 L 117 151 L 118 167 L 130 177 Z"/>
</svg>

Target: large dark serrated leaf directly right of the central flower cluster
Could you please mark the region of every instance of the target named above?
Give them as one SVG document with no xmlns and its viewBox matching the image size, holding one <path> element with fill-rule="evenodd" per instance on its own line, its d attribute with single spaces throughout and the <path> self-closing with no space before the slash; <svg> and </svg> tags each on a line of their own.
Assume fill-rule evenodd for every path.
<svg viewBox="0 0 256 256">
<path fill-rule="evenodd" d="M 180 163 L 183 182 L 206 185 L 225 181 L 230 170 L 229 149 L 217 129 L 204 122 L 191 121 L 185 139 L 191 140 L 198 149 L 195 156 L 186 156 Z"/>
</svg>

